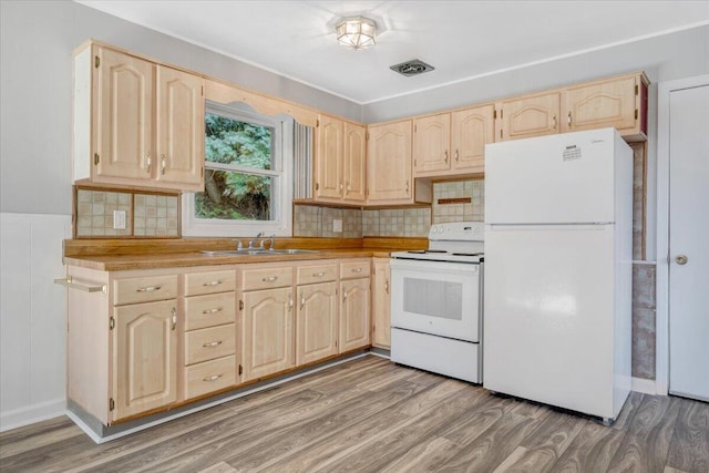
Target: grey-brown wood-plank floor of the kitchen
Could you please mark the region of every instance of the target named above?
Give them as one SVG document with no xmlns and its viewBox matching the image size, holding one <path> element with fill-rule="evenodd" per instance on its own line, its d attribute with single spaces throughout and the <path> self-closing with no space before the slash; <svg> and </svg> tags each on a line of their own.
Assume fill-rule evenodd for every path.
<svg viewBox="0 0 709 473">
<path fill-rule="evenodd" d="M 100 445 L 9 431 L 0 471 L 707 473 L 709 404 L 631 393 L 608 428 L 366 357 Z"/>
</svg>

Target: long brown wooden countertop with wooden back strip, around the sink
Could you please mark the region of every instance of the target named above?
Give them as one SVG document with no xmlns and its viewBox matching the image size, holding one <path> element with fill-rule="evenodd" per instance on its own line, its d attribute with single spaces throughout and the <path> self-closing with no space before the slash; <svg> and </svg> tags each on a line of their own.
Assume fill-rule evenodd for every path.
<svg viewBox="0 0 709 473">
<path fill-rule="evenodd" d="M 332 241 L 336 240 L 336 241 Z M 352 245 L 358 244 L 358 246 Z M 348 241 L 332 238 L 281 239 L 276 249 L 317 250 L 299 255 L 207 255 L 201 249 L 234 249 L 233 240 L 64 240 L 64 264 L 101 271 L 238 265 L 245 263 L 307 261 L 333 258 L 388 258 L 392 251 L 422 249 L 425 238 L 363 238 Z M 228 245 L 228 246 L 227 246 Z"/>
</svg>

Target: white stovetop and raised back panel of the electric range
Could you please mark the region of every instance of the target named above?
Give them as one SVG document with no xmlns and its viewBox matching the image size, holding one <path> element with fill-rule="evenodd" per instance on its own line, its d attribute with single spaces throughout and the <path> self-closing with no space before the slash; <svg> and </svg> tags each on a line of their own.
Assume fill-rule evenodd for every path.
<svg viewBox="0 0 709 473">
<path fill-rule="evenodd" d="M 484 257 L 484 224 L 436 224 L 429 230 L 429 248 L 392 253 L 392 258 L 431 261 L 481 263 Z"/>
</svg>

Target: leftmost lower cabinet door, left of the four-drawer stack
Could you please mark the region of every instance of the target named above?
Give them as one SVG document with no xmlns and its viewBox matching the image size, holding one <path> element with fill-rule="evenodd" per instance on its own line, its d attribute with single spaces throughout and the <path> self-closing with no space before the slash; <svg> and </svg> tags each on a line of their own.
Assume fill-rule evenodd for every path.
<svg viewBox="0 0 709 473">
<path fill-rule="evenodd" d="M 116 307 L 114 318 L 113 420 L 175 402 L 176 301 Z"/>
</svg>

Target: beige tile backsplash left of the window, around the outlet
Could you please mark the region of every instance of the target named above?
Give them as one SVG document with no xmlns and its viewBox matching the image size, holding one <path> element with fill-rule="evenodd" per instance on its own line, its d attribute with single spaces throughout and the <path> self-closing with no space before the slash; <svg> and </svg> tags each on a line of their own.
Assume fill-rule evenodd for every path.
<svg viewBox="0 0 709 473">
<path fill-rule="evenodd" d="M 176 195 L 76 189 L 76 237 L 178 237 Z M 125 212 L 125 229 L 113 228 L 113 212 Z"/>
</svg>

